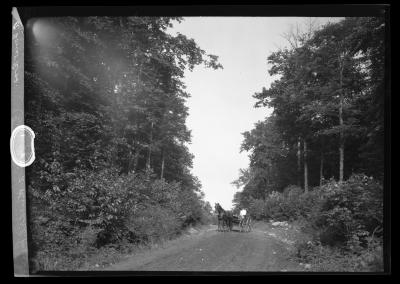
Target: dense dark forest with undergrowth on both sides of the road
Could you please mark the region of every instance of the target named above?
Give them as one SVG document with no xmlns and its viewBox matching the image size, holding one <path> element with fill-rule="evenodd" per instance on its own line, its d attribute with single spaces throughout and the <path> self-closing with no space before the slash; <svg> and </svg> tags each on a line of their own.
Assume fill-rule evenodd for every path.
<svg viewBox="0 0 400 284">
<path fill-rule="evenodd" d="M 222 66 L 169 33 L 182 20 L 28 20 L 31 270 L 105 264 L 215 217 L 191 171 L 183 79 Z M 298 224 L 312 242 L 299 240 L 297 257 L 321 271 L 383 269 L 387 28 L 383 17 L 310 21 L 268 56 L 275 81 L 253 95 L 272 114 L 243 133 L 250 164 L 233 182 L 234 211 Z"/>
</svg>

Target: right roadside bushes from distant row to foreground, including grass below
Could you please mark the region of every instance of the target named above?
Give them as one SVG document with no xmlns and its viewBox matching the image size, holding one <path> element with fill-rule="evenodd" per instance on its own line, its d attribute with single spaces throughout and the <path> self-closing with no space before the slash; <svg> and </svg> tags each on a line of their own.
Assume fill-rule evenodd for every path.
<svg viewBox="0 0 400 284">
<path fill-rule="evenodd" d="M 296 256 L 316 271 L 382 271 L 382 185 L 364 174 L 327 180 L 308 192 L 290 185 L 251 199 L 253 218 L 296 221 L 309 236 Z"/>
</svg>

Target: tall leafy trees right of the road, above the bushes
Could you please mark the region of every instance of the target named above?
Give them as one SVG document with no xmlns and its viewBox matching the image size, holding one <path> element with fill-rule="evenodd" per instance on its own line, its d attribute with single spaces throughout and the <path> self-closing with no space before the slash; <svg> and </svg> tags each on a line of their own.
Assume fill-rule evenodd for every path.
<svg viewBox="0 0 400 284">
<path fill-rule="evenodd" d="M 340 179 L 342 169 L 344 179 L 383 181 L 384 31 L 383 17 L 345 18 L 268 56 L 277 79 L 253 97 L 273 113 L 243 133 L 250 164 L 234 182 L 243 203 L 290 184 Z"/>
</svg>

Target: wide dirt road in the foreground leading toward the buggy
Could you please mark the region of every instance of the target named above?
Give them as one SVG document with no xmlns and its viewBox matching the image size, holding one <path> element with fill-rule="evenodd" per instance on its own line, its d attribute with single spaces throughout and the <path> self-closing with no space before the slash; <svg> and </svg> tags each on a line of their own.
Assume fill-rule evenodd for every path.
<svg viewBox="0 0 400 284">
<path fill-rule="evenodd" d="M 194 231 L 194 230 L 192 230 Z M 108 270 L 119 271 L 300 271 L 288 260 L 288 245 L 261 229 L 217 232 L 208 226 L 136 254 Z"/>
</svg>

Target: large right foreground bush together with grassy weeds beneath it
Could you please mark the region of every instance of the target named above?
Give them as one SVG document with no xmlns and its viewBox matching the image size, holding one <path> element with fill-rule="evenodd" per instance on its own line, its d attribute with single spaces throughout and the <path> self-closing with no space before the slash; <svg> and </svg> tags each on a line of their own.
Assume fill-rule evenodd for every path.
<svg viewBox="0 0 400 284">
<path fill-rule="evenodd" d="M 383 271 L 382 185 L 357 174 L 342 184 L 331 180 L 310 194 L 315 208 L 303 229 L 311 228 L 314 241 L 297 244 L 297 257 L 315 271 Z"/>
</svg>

